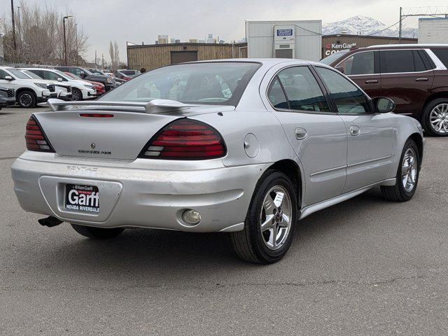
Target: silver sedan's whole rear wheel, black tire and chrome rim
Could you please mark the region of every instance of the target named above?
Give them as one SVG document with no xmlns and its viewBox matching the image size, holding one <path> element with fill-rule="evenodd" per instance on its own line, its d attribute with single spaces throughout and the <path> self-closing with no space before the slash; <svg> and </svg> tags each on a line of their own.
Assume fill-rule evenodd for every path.
<svg viewBox="0 0 448 336">
<path fill-rule="evenodd" d="M 241 259 L 270 264 L 283 258 L 294 237 L 296 194 L 293 183 L 282 172 L 269 169 L 263 174 L 255 187 L 244 230 L 230 233 L 232 246 Z"/>
</svg>

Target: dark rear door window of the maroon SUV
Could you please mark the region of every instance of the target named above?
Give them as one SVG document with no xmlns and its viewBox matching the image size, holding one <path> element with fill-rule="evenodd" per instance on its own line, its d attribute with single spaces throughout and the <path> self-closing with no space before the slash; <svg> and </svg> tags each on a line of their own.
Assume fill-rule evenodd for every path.
<svg viewBox="0 0 448 336">
<path fill-rule="evenodd" d="M 426 66 L 417 50 L 385 50 L 381 55 L 381 73 L 425 71 Z"/>
</svg>

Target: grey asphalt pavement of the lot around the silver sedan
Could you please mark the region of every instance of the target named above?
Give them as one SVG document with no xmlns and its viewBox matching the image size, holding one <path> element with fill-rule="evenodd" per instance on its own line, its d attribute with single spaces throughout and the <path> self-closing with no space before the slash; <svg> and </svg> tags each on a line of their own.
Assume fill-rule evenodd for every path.
<svg viewBox="0 0 448 336">
<path fill-rule="evenodd" d="M 34 111 L 0 111 L 0 335 L 448 334 L 448 138 L 426 139 L 412 200 L 374 188 L 312 214 L 262 266 L 224 234 L 39 225 L 10 179 Z"/>
</svg>

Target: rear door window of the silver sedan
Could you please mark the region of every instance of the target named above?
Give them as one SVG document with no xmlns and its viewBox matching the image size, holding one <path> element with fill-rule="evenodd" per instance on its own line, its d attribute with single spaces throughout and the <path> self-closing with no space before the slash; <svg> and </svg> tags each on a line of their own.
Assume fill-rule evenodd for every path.
<svg viewBox="0 0 448 336">
<path fill-rule="evenodd" d="M 330 111 L 321 87 L 307 66 L 284 69 L 278 73 L 276 78 L 283 86 L 288 99 L 288 109 L 314 112 Z M 271 95 L 269 92 L 269 99 L 271 99 Z"/>
</svg>

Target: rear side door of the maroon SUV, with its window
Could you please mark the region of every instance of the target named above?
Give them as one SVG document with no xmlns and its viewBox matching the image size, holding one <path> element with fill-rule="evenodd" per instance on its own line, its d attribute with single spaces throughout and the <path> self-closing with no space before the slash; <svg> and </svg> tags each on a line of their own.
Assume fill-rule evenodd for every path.
<svg viewBox="0 0 448 336">
<path fill-rule="evenodd" d="M 434 73 L 418 50 L 396 49 L 379 52 L 381 96 L 395 102 L 395 112 L 418 116 L 433 85 Z"/>
</svg>

